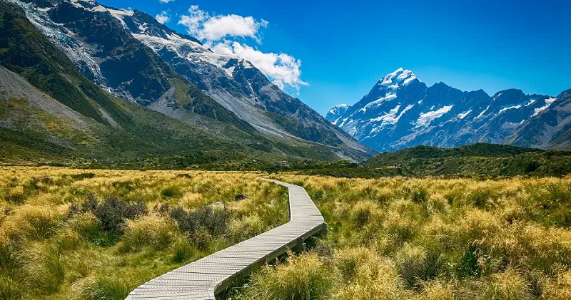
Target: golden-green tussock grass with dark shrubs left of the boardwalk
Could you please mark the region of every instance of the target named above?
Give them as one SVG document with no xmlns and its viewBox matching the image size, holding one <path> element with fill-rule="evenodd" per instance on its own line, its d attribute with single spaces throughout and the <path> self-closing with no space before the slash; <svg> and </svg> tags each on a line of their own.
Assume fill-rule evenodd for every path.
<svg viewBox="0 0 571 300">
<path fill-rule="evenodd" d="M 124 299 L 288 221 L 257 173 L 0 168 L 0 299 Z"/>
</svg>

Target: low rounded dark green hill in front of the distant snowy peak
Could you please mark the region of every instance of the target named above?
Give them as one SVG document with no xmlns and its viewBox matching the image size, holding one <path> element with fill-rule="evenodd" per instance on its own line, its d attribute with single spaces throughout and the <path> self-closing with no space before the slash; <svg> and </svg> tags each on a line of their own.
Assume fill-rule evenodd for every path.
<svg viewBox="0 0 571 300">
<path fill-rule="evenodd" d="M 454 149 L 417 146 L 381 153 L 365 166 L 398 167 L 402 175 L 412 176 L 561 176 L 571 173 L 571 152 L 493 144 Z"/>
</svg>

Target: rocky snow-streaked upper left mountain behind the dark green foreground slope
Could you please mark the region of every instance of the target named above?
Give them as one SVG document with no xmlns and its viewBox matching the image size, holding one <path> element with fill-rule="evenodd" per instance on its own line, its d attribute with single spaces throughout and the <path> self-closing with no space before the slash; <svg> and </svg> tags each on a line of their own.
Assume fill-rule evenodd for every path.
<svg viewBox="0 0 571 300">
<path fill-rule="evenodd" d="M 209 119 L 276 143 L 328 148 L 363 160 L 374 151 L 290 97 L 252 63 L 214 53 L 141 11 L 92 0 L 5 0 L 90 81 L 118 98 L 213 131 Z M 222 126 L 223 127 L 223 126 Z"/>
</svg>

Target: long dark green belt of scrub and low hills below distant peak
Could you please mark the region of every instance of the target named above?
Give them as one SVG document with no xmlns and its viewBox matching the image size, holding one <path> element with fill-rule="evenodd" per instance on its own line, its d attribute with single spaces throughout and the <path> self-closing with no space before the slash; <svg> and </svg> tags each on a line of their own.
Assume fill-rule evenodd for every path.
<svg viewBox="0 0 571 300">
<path fill-rule="evenodd" d="M 383 152 L 362 163 L 305 161 L 262 165 L 259 170 L 346 178 L 545 177 L 571 174 L 571 152 L 482 143 L 453 149 L 417 146 Z"/>
</svg>

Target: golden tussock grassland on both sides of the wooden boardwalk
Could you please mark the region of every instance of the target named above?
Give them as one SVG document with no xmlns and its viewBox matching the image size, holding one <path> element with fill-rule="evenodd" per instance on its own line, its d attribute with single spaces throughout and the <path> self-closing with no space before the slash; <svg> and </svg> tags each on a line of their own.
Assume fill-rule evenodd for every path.
<svg viewBox="0 0 571 300">
<path fill-rule="evenodd" d="M 123 299 L 288 220 L 260 172 L 0 168 L 0 299 Z M 273 175 L 328 234 L 232 299 L 571 299 L 571 178 Z"/>
</svg>

